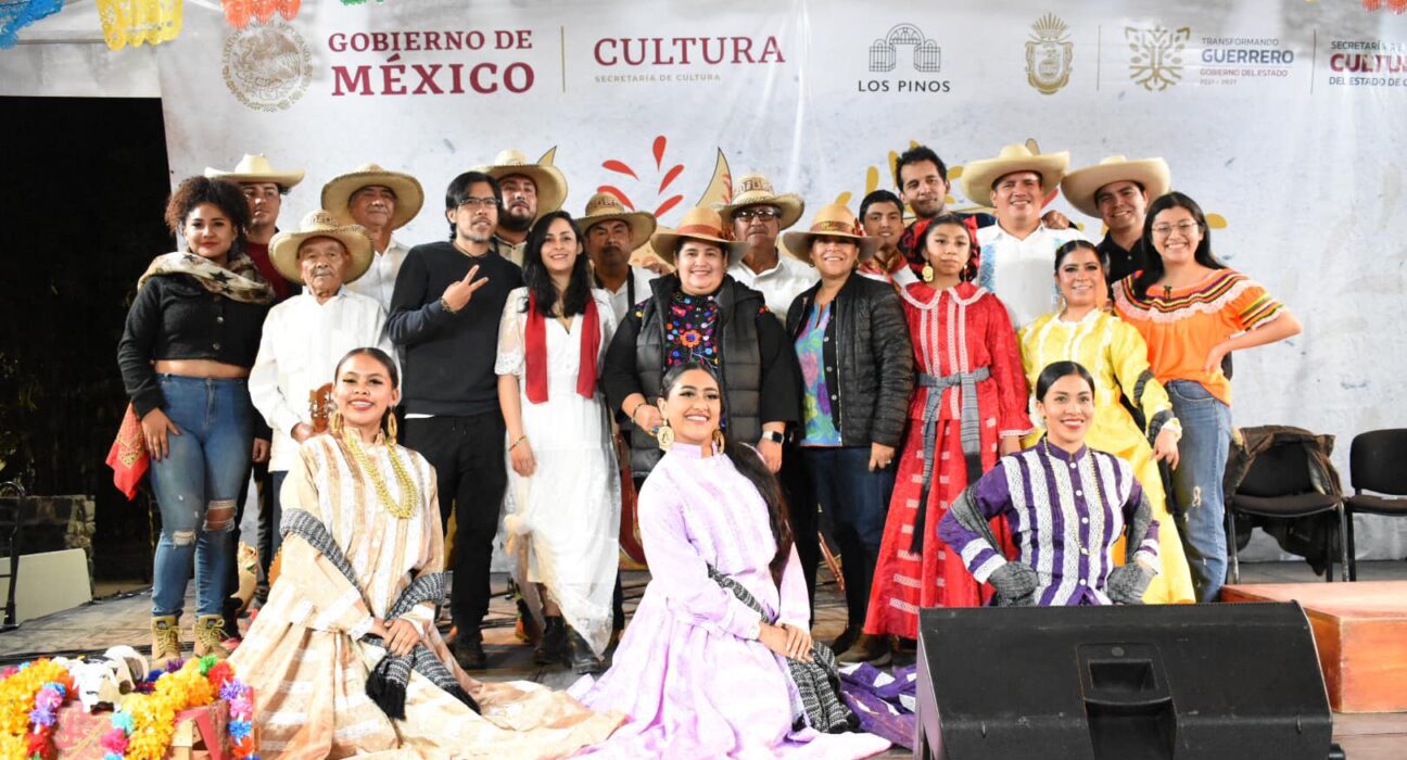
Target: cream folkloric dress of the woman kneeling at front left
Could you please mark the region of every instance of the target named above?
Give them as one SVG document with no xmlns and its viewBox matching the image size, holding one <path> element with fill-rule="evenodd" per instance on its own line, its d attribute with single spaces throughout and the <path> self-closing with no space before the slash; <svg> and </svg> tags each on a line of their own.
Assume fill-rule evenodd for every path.
<svg viewBox="0 0 1407 760">
<path fill-rule="evenodd" d="M 401 487 L 387 448 L 364 445 L 395 504 Z M 405 719 L 393 721 L 366 695 L 384 650 L 357 640 L 424 573 L 445 566 L 435 474 L 421 455 L 395 455 L 419 491 L 407 519 L 391 515 L 377 488 L 331 435 L 310 439 L 283 486 L 286 509 L 326 526 L 357 577 L 350 583 L 297 535 L 283 545 L 283 573 L 229 661 L 255 692 L 263 757 L 561 757 L 599 743 L 625 716 L 597 714 L 564 692 L 532 683 L 476 681 L 454 664 L 433 625 L 433 604 L 407 619 L 483 709 L 476 714 L 419 673 L 405 691 Z"/>
</svg>

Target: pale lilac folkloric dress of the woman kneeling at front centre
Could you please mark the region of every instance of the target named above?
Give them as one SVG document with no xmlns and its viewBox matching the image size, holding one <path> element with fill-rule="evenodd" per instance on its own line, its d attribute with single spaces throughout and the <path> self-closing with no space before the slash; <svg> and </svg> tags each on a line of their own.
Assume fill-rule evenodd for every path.
<svg viewBox="0 0 1407 760">
<path fill-rule="evenodd" d="M 868 733 L 794 730 L 799 714 L 785 661 L 757 640 L 760 615 L 709 578 L 746 587 L 777 622 L 808 626 L 810 604 L 792 550 L 781 585 L 767 504 L 726 456 L 675 445 L 640 490 L 651 581 L 615 664 L 571 694 L 630 722 L 587 754 L 604 757 L 868 757 Z"/>
</svg>

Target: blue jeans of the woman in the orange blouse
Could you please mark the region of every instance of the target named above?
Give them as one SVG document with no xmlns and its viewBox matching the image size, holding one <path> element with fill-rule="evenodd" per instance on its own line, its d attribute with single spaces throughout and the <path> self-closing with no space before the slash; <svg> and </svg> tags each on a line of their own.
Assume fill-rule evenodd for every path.
<svg viewBox="0 0 1407 760">
<path fill-rule="evenodd" d="M 1197 601 L 1217 601 L 1227 580 L 1225 494 L 1221 479 L 1231 446 L 1231 407 L 1195 380 L 1166 383 L 1182 422 L 1171 501 L 1192 569 Z"/>
</svg>

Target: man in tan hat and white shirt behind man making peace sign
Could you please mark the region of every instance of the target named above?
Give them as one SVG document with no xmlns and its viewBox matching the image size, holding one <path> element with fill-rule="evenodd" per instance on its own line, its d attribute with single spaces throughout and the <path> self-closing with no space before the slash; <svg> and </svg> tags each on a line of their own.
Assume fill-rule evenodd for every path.
<svg viewBox="0 0 1407 760">
<path fill-rule="evenodd" d="M 424 203 L 425 190 L 419 180 L 374 163 L 363 163 L 322 186 L 322 207 L 338 222 L 360 225 L 371 238 L 371 267 L 355 283 L 346 283 L 348 290 L 369 296 L 381 308 L 391 310 L 395 276 L 409 251 L 391 232 L 409 224 L 421 213 Z"/>
</svg>

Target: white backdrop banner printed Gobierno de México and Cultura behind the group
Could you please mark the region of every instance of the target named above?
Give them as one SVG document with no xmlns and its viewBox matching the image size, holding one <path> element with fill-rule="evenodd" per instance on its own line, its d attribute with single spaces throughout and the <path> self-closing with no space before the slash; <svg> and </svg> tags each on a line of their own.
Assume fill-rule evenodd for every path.
<svg viewBox="0 0 1407 760">
<path fill-rule="evenodd" d="M 1026 139 L 1072 167 L 1164 156 L 1216 252 L 1304 322 L 1237 355 L 1235 422 L 1338 435 L 1345 479 L 1354 433 L 1407 426 L 1407 18 L 1356 0 L 324 1 L 242 31 L 196 4 L 156 53 L 173 180 L 246 152 L 307 167 L 288 227 L 376 162 L 426 187 L 411 243 L 504 148 L 547 155 L 574 213 L 611 189 L 664 224 L 747 172 L 854 208 L 912 142 L 954 175 Z M 960 184 L 951 205 L 985 201 Z"/>
</svg>

